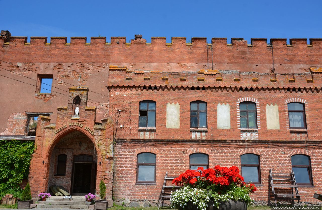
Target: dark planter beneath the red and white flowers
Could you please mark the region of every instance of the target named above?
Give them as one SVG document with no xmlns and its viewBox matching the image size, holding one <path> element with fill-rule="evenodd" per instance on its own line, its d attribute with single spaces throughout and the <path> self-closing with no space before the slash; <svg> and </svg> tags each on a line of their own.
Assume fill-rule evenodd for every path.
<svg viewBox="0 0 322 210">
<path fill-rule="evenodd" d="M 213 201 L 209 201 L 207 210 L 247 210 L 247 205 L 243 201 L 232 201 L 222 202 L 219 208 L 213 206 Z M 192 204 L 190 201 L 184 209 L 179 210 L 200 210 L 197 209 L 197 205 Z"/>
</svg>

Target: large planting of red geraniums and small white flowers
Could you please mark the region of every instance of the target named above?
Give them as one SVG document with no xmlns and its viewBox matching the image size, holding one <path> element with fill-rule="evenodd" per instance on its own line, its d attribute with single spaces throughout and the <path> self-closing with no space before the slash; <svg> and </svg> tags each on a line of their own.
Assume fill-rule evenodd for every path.
<svg viewBox="0 0 322 210">
<path fill-rule="evenodd" d="M 187 170 L 173 179 L 182 188 L 172 192 L 171 204 L 179 210 L 246 210 L 257 188 L 244 182 L 236 166 Z"/>
</svg>

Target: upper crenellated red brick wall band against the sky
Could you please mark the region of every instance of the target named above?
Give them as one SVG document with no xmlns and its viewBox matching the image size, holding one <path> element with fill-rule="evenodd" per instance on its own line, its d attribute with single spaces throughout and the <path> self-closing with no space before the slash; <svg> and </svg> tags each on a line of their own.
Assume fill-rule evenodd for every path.
<svg viewBox="0 0 322 210">
<path fill-rule="evenodd" d="M 243 38 L 192 38 L 173 37 L 166 43 L 165 37 L 152 37 L 147 43 L 137 35 L 130 43 L 126 37 L 14 37 L 0 36 L 0 55 L 7 62 L 105 62 L 115 65 L 134 64 L 144 69 L 167 71 L 196 71 L 213 64 L 222 70 L 256 71 L 268 73 L 272 68 L 274 52 L 275 72 L 303 72 L 311 66 L 322 66 L 322 39 L 252 38 L 248 44 Z M 211 53 L 212 48 L 212 53 Z M 17 56 L 19 55 L 19 56 Z M 153 68 L 152 68 L 153 66 Z"/>
</svg>

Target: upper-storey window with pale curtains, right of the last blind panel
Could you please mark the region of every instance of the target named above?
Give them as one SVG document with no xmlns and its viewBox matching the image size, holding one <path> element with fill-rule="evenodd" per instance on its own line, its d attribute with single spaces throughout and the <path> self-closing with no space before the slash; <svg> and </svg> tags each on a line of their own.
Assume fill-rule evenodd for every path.
<svg viewBox="0 0 322 210">
<path fill-rule="evenodd" d="M 304 104 L 292 102 L 287 104 L 289 110 L 289 128 L 306 129 Z"/>
</svg>

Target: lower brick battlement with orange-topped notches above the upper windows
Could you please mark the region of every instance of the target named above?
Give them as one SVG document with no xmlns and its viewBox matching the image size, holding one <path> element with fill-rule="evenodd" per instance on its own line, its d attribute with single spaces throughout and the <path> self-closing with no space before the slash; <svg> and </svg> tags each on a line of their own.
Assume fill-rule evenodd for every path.
<svg viewBox="0 0 322 210">
<path fill-rule="evenodd" d="M 116 86 L 139 86 L 148 89 L 162 87 L 213 88 L 213 87 L 248 87 L 248 88 L 306 88 L 320 89 L 322 74 L 316 72 L 268 74 L 257 72 L 204 70 L 198 72 L 162 72 L 116 69 L 109 70 L 109 88 Z"/>
</svg>

